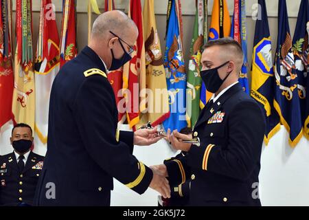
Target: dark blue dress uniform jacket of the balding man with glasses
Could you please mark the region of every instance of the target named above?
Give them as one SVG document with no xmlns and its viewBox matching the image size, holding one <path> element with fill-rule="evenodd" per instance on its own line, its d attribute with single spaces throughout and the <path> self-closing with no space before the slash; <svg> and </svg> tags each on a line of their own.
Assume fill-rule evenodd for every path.
<svg viewBox="0 0 309 220">
<path fill-rule="evenodd" d="M 152 170 L 133 156 L 133 132 L 117 130 L 117 113 L 104 63 L 85 47 L 52 85 L 38 206 L 109 206 L 113 177 L 145 192 Z"/>
</svg>

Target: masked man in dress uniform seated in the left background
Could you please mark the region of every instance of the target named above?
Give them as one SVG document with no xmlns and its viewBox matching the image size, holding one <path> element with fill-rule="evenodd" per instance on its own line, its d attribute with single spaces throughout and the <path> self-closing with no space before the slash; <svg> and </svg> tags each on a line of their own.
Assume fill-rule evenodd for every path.
<svg viewBox="0 0 309 220">
<path fill-rule="evenodd" d="M 0 157 L 0 205 L 32 206 L 44 157 L 31 151 L 32 129 L 16 124 L 12 129 L 12 153 Z"/>
</svg>

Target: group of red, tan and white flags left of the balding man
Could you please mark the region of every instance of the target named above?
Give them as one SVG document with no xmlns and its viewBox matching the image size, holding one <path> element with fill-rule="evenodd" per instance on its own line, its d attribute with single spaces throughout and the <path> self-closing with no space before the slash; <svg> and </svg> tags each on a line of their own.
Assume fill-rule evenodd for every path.
<svg viewBox="0 0 309 220">
<path fill-rule="evenodd" d="M 62 1 L 60 38 L 52 0 L 41 1 L 38 43 L 33 53 L 32 0 L 16 0 L 16 50 L 12 53 L 12 0 L 0 10 L 0 128 L 27 123 L 47 142 L 49 95 L 60 67 L 74 58 L 76 2 Z"/>
</svg>

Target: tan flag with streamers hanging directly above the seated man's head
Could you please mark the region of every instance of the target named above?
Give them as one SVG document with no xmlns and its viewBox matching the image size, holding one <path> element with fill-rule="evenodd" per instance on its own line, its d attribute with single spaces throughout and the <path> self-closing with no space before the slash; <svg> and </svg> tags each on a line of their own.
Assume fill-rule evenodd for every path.
<svg viewBox="0 0 309 220">
<path fill-rule="evenodd" d="M 16 0 L 16 53 L 12 112 L 15 123 L 29 124 L 34 131 L 36 99 L 32 55 L 32 1 Z"/>
</svg>

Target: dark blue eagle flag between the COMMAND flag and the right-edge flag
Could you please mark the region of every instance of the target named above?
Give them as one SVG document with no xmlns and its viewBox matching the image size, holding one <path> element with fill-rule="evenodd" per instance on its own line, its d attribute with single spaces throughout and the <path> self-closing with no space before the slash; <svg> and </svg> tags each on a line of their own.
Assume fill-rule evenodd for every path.
<svg viewBox="0 0 309 220">
<path fill-rule="evenodd" d="M 286 0 L 279 1 L 278 39 L 275 55 L 275 109 L 289 135 L 290 146 L 296 146 L 302 135 L 299 98 L 299 76 L 295 72 L 295 57 L 288 25 Z"/>
</svg>

